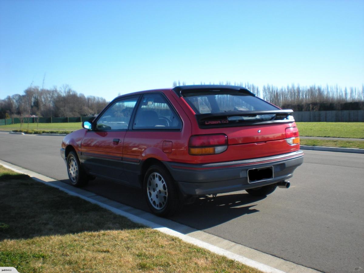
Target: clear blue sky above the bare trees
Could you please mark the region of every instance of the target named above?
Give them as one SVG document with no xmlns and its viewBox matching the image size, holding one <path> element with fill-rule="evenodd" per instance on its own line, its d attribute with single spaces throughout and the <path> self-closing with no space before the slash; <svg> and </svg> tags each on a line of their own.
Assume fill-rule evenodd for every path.
<svg viewBox="0 0 364 273">
<path fill-rule="evenodd" d="M 359 87 L 364 1 L 0 0 L 0 99 L 230 81 Z"/>
</svg>

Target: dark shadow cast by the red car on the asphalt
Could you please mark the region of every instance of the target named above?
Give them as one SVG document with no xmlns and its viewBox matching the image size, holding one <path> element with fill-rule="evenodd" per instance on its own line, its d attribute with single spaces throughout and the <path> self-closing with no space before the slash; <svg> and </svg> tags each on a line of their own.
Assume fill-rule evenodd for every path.
<svg viewBox="0 0 364 273">
<path fill-rule="evenodd" d="M 62 182 L 69 184 L 68 180 Z M 102 197 L 134 207 L 150 213 L 142 190 L 124 186 L 119 183 L 104 179 L 90 181 L 82 189 L 91 191 Z M 173 217 L 172 221 L 203 230 L 220 225 L 242 215 L 256 213 L 256 202 L 266 198 L 253 197 L 246 191 L 238 191 L 231 194 L 202 196 L 190 205 L 184 205 L 182 210 Z"/>
</svg>

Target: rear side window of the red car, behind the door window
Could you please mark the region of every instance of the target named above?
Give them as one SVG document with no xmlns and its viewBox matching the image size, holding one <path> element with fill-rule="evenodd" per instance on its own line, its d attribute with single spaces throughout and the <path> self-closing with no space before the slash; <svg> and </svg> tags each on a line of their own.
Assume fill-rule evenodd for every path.
<svg viewBox="0 0 364 273">
<path fill-rule="evenodd" d="M 181 126 L 181 120 L 161 94 L 143 95 L 133 129 L 181 129 Z"/>
</svg>

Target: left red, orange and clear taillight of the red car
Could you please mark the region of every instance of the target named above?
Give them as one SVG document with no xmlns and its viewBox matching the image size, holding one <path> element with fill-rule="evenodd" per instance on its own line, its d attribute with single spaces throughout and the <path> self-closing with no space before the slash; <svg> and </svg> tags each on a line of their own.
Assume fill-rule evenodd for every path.
<svg viewBox="0 0 364 273">
<path fill-rule="evenodd" d="M 227 149 L 225 134 L 194 135 L 190 137 L 188 152 L 191 155 L 220 154 Z"/>
</svg>

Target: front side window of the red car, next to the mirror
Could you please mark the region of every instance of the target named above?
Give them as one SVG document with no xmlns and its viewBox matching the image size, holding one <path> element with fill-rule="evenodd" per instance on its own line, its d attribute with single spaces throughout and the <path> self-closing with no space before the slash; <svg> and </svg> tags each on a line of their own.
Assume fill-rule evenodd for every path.
<svg viewBox="0 0 364 273">
<path fill-rule="evenodd" d="M 127 129 L 138 98 L 119 100 L 112 104 L 97 120 L 96 130 Z"/>
</svg>

